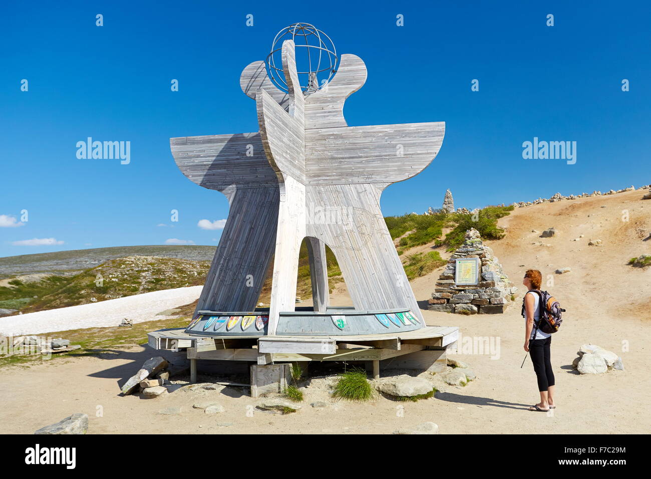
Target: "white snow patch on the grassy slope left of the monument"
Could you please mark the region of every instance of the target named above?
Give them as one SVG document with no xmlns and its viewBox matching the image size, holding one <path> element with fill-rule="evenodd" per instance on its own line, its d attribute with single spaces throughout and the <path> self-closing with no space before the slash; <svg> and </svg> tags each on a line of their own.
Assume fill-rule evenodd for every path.
<svg viewBox="0 0 651 479">
<path fill-rule="evenodd" d="M 110 327 L 128 318 L 133 323 L 151 321 L 165 310 L 188 304 L 199 298 L 202 286 L 152 291 L 142 295 L 80 304 L 56 310 L 38 311 L 0 318 L 0 334 L 40 334 L 78 328 Z"/>
</svg>

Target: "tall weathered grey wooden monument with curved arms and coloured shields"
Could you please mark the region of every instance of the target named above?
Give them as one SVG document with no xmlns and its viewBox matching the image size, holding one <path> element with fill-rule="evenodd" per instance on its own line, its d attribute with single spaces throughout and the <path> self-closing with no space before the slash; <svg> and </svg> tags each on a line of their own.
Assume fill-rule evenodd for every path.
<svg viewBox="0 0 651 479">
<path fill-rule="evenodd" d="M 337 341 L 365 335 L 396 339 L 410 332 L 440 340 L 443 336 L 424 324 L 383 219 L 380 195 L 432 162 L 445 123 L 348 126 L 344 102 L 364 85 L 364 62 L 335 55 L 329 81 L 318 85 L 318 66 L 297 70 L 294 39 L 297 33 L 324 34 L 305 23 L 285 31 L 292 38 L 272 48 L 267 61 L 248 65 L 240 77 L 242 91 L 255 100 L 258 132 L 171 139 L 184 175 L 225 194 L 230 203 L 195 317 L 182 337 L 258 340 L 258 354 L 332 354 Z M 275 51 L 282 68 L 270 61 Z M 281 72 L 279 80 L 275 72 Z M 301 85 L 299 74 L 305 73 L 309 81 Z M 296 308 L 295 301 L 303 239 L 314 303 L 309 310 Z M 328 304 L 326 245 L 352 298 L 348 308 Z M 256 309 L 272 257 L 270 308 Z M 268 360 L 258 358 L 258 364 Z"/>
</svg>

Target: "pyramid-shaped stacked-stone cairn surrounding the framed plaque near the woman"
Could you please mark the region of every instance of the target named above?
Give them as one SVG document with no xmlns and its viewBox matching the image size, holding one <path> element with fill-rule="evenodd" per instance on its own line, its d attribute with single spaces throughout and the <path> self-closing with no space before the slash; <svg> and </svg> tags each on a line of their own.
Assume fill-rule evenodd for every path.
<svg viewBox="0 0 651 479">
<path fill-rule="evenodd" d="M 481 260 L 481 278 L 476 285 L 454 283 L 455 259 L 475 258 Z M 439 276 L 428 309 L 460 314 L 495 314 L 506 310 L 511 295 L 518 288 L 511 286 L 493 250 L 484 246 L 479 231 L 471 228 L 465 232 L 464 244 L 458 248 Z"/>
</svg>

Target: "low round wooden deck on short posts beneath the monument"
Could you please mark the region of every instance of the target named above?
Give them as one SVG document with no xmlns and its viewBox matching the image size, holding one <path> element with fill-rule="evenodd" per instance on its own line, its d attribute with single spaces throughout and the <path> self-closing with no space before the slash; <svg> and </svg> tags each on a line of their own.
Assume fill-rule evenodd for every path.
<svg viewBox="0 0 651 479">
<path fill-rule="evenodd" d="M 374 377 L 380 375 L 380 361 L 400 358 L 404 368 L 445 368 L 445 349 L 459 334 L 457 327 L 428 326 L 415 331 L 357 336 L 200 336 L 184 328 L 148 333 L 154 349 L 187 349 L 191 380 L 196 380 L 197 359 L 249 361 L 256 364 L 303 361 L 367 361 Z M 424 351 L 427 354 L 413 355 Z M 436 352 L 438 351 L 438 352 Z M 425 357 L 426 356 L 426 357 Z M 431 364 L 428 364 L 431 363 Z"/>
</svg>

